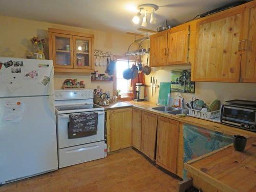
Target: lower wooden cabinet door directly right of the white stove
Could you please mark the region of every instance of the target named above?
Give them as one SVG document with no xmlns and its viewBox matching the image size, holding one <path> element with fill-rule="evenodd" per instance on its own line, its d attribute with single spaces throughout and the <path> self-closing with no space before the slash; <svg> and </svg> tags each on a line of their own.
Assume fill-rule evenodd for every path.
<svg viewBox="0 0 256 192">
<path fill-rule="evenodd" d="M 132 146 L 132 108 L 110 111 L 110 151 Z"/>
</svg>

